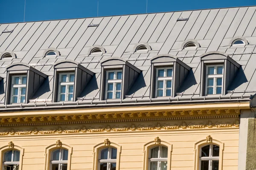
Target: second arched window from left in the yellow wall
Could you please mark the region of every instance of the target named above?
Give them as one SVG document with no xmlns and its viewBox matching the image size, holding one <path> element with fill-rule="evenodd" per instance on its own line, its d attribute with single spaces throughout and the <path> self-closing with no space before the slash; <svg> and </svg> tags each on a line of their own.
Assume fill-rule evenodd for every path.
<svg viewBox="0 0 256 170">
<path fill-rule="evenodd" d="M 51 152 L 50 170 L 67 170 L 68 150 L 56 149 Z"/>
</svg>

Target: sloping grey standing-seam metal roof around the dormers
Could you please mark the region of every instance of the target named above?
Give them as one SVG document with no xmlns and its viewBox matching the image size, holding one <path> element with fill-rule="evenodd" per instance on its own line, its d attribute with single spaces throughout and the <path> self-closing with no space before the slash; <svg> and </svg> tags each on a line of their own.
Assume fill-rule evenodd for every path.
<svg viewBox="0 0 256 170">
<path fill-rule="evenodd" d="M 177 21 L 178 18 L 189 20 Z M 197 97 L 200 92 L 200 55 L 209 51 L 227 53 L 241 65 L 241 70 L 228 88 L 227 96 L 256 93 L 256 6 L 177 11 L 155 14 L 135 14 L 113 17 L 81 18 L 71 20 L 39 21 L 0 24 L 0 53 L 6 50 L 16 54 L 14 59 L 0 60 L 0 105 L 4 105 L 6 66 L 24 62 L 49 77 L 31 99 L 52 99 L 53 64 L 64 59 L 80 62 L 96 75 L 96 81 L 87 84 L 79 101 L 99 100 L 100 61 L 108 57 L 128 59 L 142 71 L 126 99 L 149 99 L 150 59 L 158 54 L 172 54 L 192 68 L 175 98 Z M 87 27 L 99 24 L 97 27 Z M 230 47 L 233 37 L 241 36 L 248 45 Z M 181 45 L 194 39 L 200 47 L 183 49 Z M 146 42 L 151 50 L 134 52 L 134 46 Z M 106 53 L 89 54 L 93 45 L 102 45 Z M 57 57 L 44 57 L 47 48 L 56 48 Z M 49 81 L 48 81 L 49 80 Z M 42 102 L 40 102 L 42 103 Z"/>
</svg>

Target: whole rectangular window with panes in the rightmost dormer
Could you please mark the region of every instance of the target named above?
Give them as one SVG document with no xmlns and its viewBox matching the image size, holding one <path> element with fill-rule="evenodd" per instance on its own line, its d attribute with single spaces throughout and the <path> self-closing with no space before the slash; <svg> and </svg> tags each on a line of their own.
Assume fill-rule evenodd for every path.
<svg viewBox="0 0 256 170">
<path fill-rule="evenodd" d="M 207 65 L 206 95 L 222 94 L 223 65 Z"/>
</svg>

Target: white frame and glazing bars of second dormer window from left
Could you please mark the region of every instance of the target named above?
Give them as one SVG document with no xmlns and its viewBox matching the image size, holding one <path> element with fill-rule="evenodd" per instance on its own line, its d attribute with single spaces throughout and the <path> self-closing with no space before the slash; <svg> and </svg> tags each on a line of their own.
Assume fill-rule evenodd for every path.
<svg viewBox="0 0 256 170">
<path fill-rule="evenodd" d="M 69 82 L 69 77 L 70 77 L 70 74 L 74 74 L 74 82 Z M 66 79 L 66 81 L 67 82 L 61 82 L 61 75 L 67 75 L 67 79 Z M 76 79 L 76 77 L 75 77 L 76 75 L 75 75 L 75 73 L 74 72 L 68 72 L 68 73 L 60 73 L 59 74 L 59 79 L 58 79 L 58 81 L 59 81 L 59 86 L 58 86 L 58 102 L 67 102 L 67 101 L 69 101 L 68 100 L 68 95 L 69 94 L 73 94 L 73 99 L 74 99 L 74 89 L 75 89 L 75 79 Z M 65 101 L 60 101 L 60 99 L 61 99 L 61 86 L 63 86 L 63 85 L 65 85 L 66 86 L 66 91 L 65 91 Z M 68 89 L 68 86 L 70 86 L 70 85 L 73 85 L 73 93 L 69 93 L 69 89 Z M 72 100 L 71 100 L 72 101 Z"/>
</svg>

